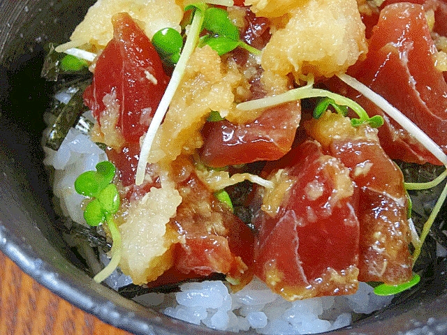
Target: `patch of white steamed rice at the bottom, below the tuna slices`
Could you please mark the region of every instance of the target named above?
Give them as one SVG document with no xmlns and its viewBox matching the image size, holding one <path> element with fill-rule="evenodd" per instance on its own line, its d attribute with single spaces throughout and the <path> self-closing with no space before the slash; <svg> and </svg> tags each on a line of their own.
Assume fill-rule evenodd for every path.
<svg viewBox="0 0 447 335">
<path fill-rule="evenodd" d="M 259 334 L 315 334 L 348 326 L 353 312 L 369 314 L 393 299 L 374 295 L 366 283 L 360 283 L 355 295 L 293 302 L 273 293 L 257 278 L 236 293 L 221 281 L 186 283 L 180 289 L 175 294 L 149 293 L 136 300 L 158 306 L 173 318 L 213 329 L 239 332 L 251 327 Z"/>
</svg>

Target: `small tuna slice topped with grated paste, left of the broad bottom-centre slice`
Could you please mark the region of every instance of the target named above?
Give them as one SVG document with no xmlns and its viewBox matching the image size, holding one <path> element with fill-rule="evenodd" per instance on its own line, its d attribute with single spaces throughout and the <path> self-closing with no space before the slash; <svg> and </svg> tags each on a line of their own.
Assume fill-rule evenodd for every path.
<svg viewBox="0 0 447 335">
<path fill-rule="evenodd" d="M 193 174 L 178 187 L 182 203 L 170 225 L 181 241 L 175 269 L 200 276 L 226 274 L 233 283 L 251 280 L 254 236 L 251 230 Z"/>
</svg>

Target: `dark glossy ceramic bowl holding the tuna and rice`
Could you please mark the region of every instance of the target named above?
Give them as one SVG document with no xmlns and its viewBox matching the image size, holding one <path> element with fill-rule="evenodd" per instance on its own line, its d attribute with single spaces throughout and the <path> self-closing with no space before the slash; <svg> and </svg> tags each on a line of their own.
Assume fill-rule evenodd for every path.
<svg viewBox="0 0 447 335">
<path fill-rule="evenodd" d="M 115 327 L 135 334 L 222 334 L 168 318 L 94 283 L 64 241 L 42 164 L 42 114 L 51 87 L 40 70 L 44 43 L 68 40 L 92 3 L 0 0 L 0 249 L 52 292 Z M 418 290 L 333 334 L 447 334 L 446 268 L 444 260 L 434 261 Z"/>
</svg>

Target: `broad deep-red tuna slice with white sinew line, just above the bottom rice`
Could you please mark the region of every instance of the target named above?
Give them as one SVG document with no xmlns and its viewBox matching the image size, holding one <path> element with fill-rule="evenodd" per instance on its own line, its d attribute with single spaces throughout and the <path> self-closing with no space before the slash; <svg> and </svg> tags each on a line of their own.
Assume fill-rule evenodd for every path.
<svg viewBox="0 0 447 335">
<path fill-rule="evenodd" d="M 277 190 L 265 196 L 277 191 L 272 198 L 284 198 L 255 221 L 254 273 L 288 300 L 352 294 L 359 225 L 349 170 L 317 142 L 304 142 L 287 156 L 293 165 L 271 174 Z M 264 200 L 263 208 L 269 206 Z"/>
</svg>

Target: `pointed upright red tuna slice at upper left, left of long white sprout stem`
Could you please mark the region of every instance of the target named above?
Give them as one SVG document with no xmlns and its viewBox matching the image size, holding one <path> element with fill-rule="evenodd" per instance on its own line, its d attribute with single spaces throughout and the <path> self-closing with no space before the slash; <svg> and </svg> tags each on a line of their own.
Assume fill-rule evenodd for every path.
<svg viewBox="0 0 447 335">
<path fill-rule="evenodd" d="M 103 98 L 115 94 L 119 104 L 116 127 L 126 142 L 138 143 L 158 107 L 169 78 L 159 54 L 127 13 L 112 17 L 113 39 L 96 61 L 92 84 L 84 94 L 98 122 L 107 112 Z"/>
</svg>

